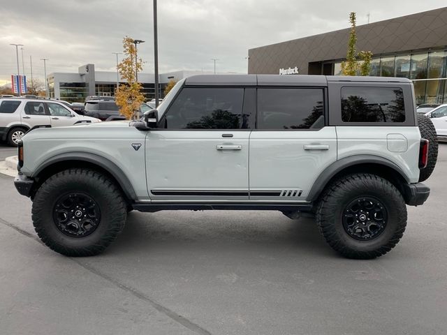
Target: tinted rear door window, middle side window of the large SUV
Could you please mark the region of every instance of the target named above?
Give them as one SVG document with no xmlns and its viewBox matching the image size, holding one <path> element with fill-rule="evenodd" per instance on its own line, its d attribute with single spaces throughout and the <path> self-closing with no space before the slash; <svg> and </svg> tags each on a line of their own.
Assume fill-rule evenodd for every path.
<svg viewBox="0 0 447 335">
<path fill-rule="evenodd" d="M 258 89 L 258 129 L 324 126 L 323 89 Z"/>
</svg>

